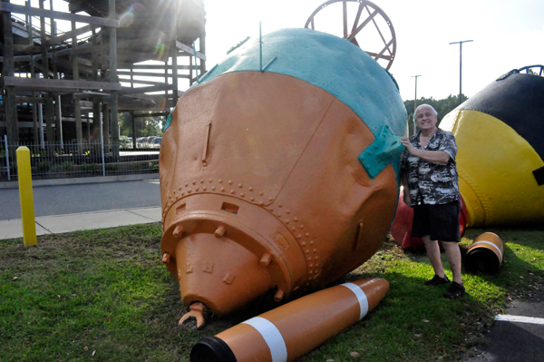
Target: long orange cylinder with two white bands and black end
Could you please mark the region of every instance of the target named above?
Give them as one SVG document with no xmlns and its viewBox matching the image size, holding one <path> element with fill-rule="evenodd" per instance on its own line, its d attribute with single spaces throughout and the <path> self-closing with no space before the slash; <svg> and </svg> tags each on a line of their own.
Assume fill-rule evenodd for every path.
<svg viewBox="0 0 544 362">
<path fill-rule="evenodd" d="M 200 339 L 190 361 L 294 361 L 364 318 L 388 290 L 385 279 L 362 279 L 317 291 Z"/>
</svg>

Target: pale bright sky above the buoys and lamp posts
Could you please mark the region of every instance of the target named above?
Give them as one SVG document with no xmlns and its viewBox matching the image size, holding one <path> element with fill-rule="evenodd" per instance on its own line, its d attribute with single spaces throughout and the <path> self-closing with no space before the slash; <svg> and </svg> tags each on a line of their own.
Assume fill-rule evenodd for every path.
<svg viewBox="0 0 544 362">
<path fill-rule="evenodd" d="M 309 15 L 323 3 L 325 0 L 204 0 L 208 68 L 219 63 L 230 47 L 248 35 L 258 37 L 259 21 L 263 34 L 304 27 Z M 422 75 L 417 78 L 418 98 L 442 99 L 459 94 L 460 46 L 451 45 L 453 42 L 473 40 L 462 44 L 462 93 L 468 96 L 512 69 L 544 64 L 543 0 L 373 3 L 393 24 L 397 48 L 389 71 L 399 84 L 403 100 L 414 98 L 413 75 Z M 334 25 L 338 31 L 342 29 L 342 6 L 337 6 L 337 11 L 331 5 L 320 13 L 325 16 L 325 11 L 330 12 L 330 17 L 322 22 L 328 25 L 327 32 Z M 351 28 L 353 22 L 348 24 Z M 316 22 L 316 30 L 322 29 Z M 377 36 L 368 34 L 379 40 Z"/>
</svg>

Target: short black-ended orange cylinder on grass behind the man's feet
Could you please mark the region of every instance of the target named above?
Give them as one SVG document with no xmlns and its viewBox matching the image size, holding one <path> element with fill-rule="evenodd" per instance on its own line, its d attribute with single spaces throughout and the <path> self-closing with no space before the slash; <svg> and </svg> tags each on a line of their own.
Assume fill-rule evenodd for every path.
<svg viewBox="0 0 544 362">
<path fill-rule="evenodd" d="M 465 257 L 465 269 L 486 274 L 499 272 L 504 247 L 497 234 L 484 232 L 474 240 Z"/>
</svg>

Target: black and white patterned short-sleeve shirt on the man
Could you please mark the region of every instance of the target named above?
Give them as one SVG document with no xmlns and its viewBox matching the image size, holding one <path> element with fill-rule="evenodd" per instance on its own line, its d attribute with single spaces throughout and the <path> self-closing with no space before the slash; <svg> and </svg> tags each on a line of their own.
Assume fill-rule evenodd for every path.
<svg viewBox="0 0 544 362">
<path fill-rule="evenodd" d="M 421 150 L 420 132 L 410 137 L 413 147 Z M 403 152 L 401 171 L 410 188 L 412 205 L 435 205 L 459 200 L 459 176 L 455 155 L 457 145 L 452 132 L 438 129 L 424 148 L 425 151 L 443 151 L 450 155 L 446 164 L 424 161 L 406 150 Z"/>
</svg>

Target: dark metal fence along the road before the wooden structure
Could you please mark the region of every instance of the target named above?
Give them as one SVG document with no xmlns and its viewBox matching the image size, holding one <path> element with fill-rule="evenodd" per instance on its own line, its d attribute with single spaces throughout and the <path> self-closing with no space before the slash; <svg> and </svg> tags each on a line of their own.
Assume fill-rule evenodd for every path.
<svg viewBox="0 0 544 362">
<path fill-rule="evenodd" d="M 8 145 L 6 137 L 0 142 L 0 181 L 17 180 L 16 150 L 30 150 L 34 180 L 75 177 L 114 176 L 159 171 L 160 144 L 141 143 L 137 150 L 132 144 L 83 142 L 63 144 L 20 143 Z"/>
</svg>

